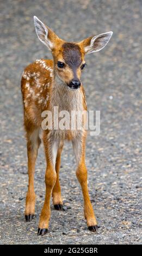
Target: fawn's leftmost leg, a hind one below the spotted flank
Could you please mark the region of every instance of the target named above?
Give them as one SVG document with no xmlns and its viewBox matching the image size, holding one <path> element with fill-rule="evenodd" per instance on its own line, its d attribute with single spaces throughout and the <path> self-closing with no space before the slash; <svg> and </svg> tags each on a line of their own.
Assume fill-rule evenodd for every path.
<svg viewBox="0 0 142 256">
<path fill-rule="evenodd" d="M 27 129 L 27 154 L 28 154 L 28 191 L 26 196 L 26 221 L 31 221 L 35 213 L 35 192 L 34 192 L 34 173 L 35 161 L 41 140 L 39 138 L 39 128 L 30 126 Z"/>
</svg>

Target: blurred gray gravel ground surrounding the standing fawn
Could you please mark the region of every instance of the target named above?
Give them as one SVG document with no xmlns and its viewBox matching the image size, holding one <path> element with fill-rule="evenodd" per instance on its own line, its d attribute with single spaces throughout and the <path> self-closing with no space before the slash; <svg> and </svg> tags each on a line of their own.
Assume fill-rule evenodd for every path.
<svg viewBox="0 0 142 256">
<path fill-rule="evenodd" d="M 35 173 L 36 217 L 24 221 L 27 152 L 20 80 L 36 58 L 51 58 L 38 40 L 36 15 L 63 39 L 82 40 L 113 31 L 108 46 L 87 56 L 83 84 L 88 108 L 101 111 L 101 133 L 88 136 L 89 190 L 100 228 L 90 233 L 83 217 L 71 144 L 62 154 L 60 182 L 65 212 L 51 202 L 49 233 L 37 236 L 45 195 L 45 157 Z M 1 243 L 141 243 L 141 1 L 1 0 Z"/>
</svg>

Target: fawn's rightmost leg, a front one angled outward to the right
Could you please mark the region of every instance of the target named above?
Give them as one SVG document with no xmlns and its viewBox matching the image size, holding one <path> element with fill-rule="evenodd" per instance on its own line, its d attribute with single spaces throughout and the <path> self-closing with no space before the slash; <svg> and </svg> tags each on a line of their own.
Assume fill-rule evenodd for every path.
<svg viewBox="0 0 142 256">
<path fill-rule="evenodd" d="M 84 198 L 84 216 L 87 220 L 89 230 L 97 231 L 97 221 L 88 192 L 87 167 L 85 166 L 85 137 L 74 139 L 72 144 L 77 162 L 76 175 L 79 183 L 81 184 Z"/>
</svg>

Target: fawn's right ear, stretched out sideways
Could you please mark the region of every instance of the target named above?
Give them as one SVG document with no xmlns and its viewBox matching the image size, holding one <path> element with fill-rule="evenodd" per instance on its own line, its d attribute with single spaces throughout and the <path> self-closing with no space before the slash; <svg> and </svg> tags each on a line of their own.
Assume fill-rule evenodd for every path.
<svg viewBox="0 0 142 256">
<path fill-rule="evenodd" d="M 96 36 L 91 36 L 90 38 L 84 39 L 79 44 L 84 48 L 86 54 L 92 52 L 101 51 L 109 42 L 112 37 L 113 32 L 107 32 Z"/>
</svg>

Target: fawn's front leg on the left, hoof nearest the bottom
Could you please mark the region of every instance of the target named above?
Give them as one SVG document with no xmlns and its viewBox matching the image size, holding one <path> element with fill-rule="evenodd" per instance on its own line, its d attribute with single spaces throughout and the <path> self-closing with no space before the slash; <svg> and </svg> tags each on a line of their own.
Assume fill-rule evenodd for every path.
<svg viewBox="0 0 142 256">
<path fill-rule="evenodd" d="M 57 179 L 57 174 L 55 172 L 55 159 L 57 156 L 58 142 L 53 141 L 52 139 L 47 139 L 46 136 L 44 136 L 43 139 L 47 161 L 47 168 L 45 173 L 46 195 L 44 206 L 40 215 L 38 235 L 45 235 L 48 231 L 48 224 L 51 215 L 50 199 L 55 181 Z"/>
</svg>

